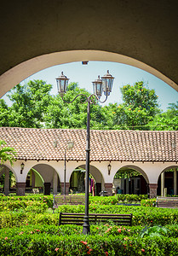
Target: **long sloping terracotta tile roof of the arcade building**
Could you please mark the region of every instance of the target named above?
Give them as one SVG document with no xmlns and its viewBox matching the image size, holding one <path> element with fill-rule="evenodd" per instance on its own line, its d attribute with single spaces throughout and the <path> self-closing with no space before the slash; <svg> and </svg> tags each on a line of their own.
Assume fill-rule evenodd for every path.
<svg viewBox="0 0 178 256">
<path fill-rule="evenodd" d="M 14 147 L 19 160 L 85 160 L 86 131 L 74 129 L 0 128 L 0 139 Z M 57 148 L 54 142 L 57 141 Z M 90 131 L 90 160 L 178 161 L 178 131 Z"/>
</svg>

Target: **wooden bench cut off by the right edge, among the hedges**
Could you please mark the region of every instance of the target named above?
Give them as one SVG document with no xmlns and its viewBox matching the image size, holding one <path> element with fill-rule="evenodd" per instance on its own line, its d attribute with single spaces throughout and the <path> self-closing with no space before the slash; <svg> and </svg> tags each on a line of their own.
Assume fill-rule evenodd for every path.
<svg viewBox="0 0 178 256">
<path fill-rule="evenodd" d="M 158 196 L 156 201 L 156 206 L 162 207 L 162 208 L 177 208 L 178 197 Z"/>
</svg>

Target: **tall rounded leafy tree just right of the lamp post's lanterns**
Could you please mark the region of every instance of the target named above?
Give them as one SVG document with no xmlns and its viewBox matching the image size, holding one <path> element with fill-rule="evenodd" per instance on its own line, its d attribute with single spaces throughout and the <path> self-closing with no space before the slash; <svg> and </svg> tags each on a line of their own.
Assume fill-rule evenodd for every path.
<svg viewBox="0 0 178 256">
<path fill-rule="evenodd" d="M 144 83 L 124 85 L 121 88 L 123 103 L 109 105 L 110 127 L 112 129 L 148 130 L 148 124 L 159 112 L 158 96 L 154 90 L 149 90 Z M 112 113 L 111 113 L 112 111 Z"/>
</svg>

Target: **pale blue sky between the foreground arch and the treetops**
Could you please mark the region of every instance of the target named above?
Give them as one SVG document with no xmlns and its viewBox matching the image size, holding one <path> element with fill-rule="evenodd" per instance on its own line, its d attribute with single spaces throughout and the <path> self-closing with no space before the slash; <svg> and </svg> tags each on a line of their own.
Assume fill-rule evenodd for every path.
<svg viewBox="0 0 178 256">
<path fill-rule="evenodd" d="M 102 76 L 106 74 L 107 69 L 112 76 L 115 77 L 115 79 L 112 87 L 112 93 L 108 97 L 105 103 L 106 105 L 109 102 L 121 103 L 122 98 L 119 88 L 124 84 L 135 84 L 135 82 L 141 80 L 147 84 L 149 89 L 154 89 L 156 91 L 160 108 L 164 111 L 166 111 L 168 103 L 178 101 L 178 92 L 172 89 L 172 87 L 170 87 L 168 84 L 164 83 L 164 81 L 161 79 L 158 79 L 140 68 L 107 61 L 89 61 L 88 65 L 82 65 L 82 62 L 72 62 L 49 67 L 33 74 L 29 78 L 22 81 L 21 84 L 33 79 L 43 79 L 48 84 L 53 85 L 53 90 L 51 93 L 57 94 L 55 79 L 59 77 L 61 71 L 63 71 L 67 78 L 70 79 L 69 82 L 78 82 L 79 87 L 85 88 L 86 90 L 89 90 L 89 92 L 92 92 L 92 81 L 97 79 L 98 75 Z M 3 96 L 3 98 L 6 102 L 8 102 L 6 96 Z"/>
</svg>

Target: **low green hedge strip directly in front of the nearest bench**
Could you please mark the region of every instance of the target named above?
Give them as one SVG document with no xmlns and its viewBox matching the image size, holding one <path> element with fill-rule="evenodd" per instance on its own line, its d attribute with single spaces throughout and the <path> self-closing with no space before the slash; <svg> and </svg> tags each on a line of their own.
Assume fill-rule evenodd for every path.
<svg viewBox="0 0 178 256">
<path fill-rule="evenodd" d="M 168 232 L 167 237 L 178 237 L 178 224 L 174 225 L 165 225 L 164 226 Z M 92 224 L 90 225 L 90 235 L 101 235 L 101 236 L 140 236 L 141 230 L 145 229 L 142 226 L 120 226 L 115 224 Z M 9 238 L 22 234 L 50 234 L 63 236 L 63 235 L 82 235 L 83 227 L 66 224 L 66 225 L 55 225 L 55 224 L 22 224 L 18 227 L 13 228 L 3 228 L 0 230 L 0 237 Z"/>
</svg>

